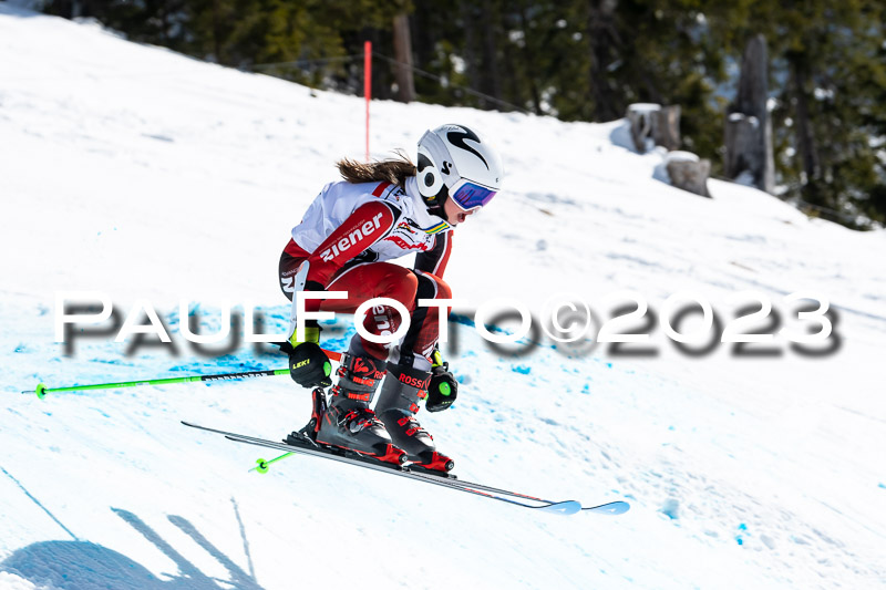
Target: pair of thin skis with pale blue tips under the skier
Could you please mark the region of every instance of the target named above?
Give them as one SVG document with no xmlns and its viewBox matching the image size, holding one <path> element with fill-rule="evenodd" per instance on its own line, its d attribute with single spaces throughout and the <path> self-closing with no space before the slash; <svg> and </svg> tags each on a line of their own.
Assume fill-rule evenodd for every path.
<svg viewBox="0 0 886 590">
<path fill-rule="evenodd" d="M 579 511 L 588 511 L 602 515 L 620 515 L 626 513 L 630 508 L 630 505 L 628 505 L 628 503 L 626 501 L 612 501 L 599 506 L 583 507 L 579 503 L 575 500 L 563 500 L 563 501 L 547 500 L 544 498 L 538 498 L 526 494 L 519 494 L 516 491 L 509 491 L 506 489 L 495 488 L 483 484 L 463 482 L 454 475 L 445 473 L 436 473 L 436 472 L 431 473 L 414 465 L 399 466 L 389 463 L 382 463 L 353 452 L 346 452 L 340 449 L 333 451 L 331 448 L 326 448 L 321 446 L 309 446 L 309 443 L 307 442 L 305 445 L 290 445 L 282 442 L 278 443 L 275 441 L 268 441 L 266 438 L 257 438 L 255 436 L 248 436 L 228 431 L 220 431 L 217 428 L 210 428 L 208 426 L 200 426 L 198 424 L 194 424 L 190 422 L 182 421 L 182 424 L 184 424 L 185 426 L 189 426 L 192 428 L 198 428 L 202 431 L 220 434 L 226 438 L 237 443 L 262 446 L 267 448 L 275 448 L 278 451 L 285 451 L 287 453 L 310 455 L 315 457 L 322 457 L 327 459 L 337 460 L 340 463 L 347 463 L 350 465 L 357 465 L 359 467 L 365 467 L 377 472 L 390 473 L 409 479 L 424 482 L 426 484 L 433 484 L 436 486 L 447 487 L 450 489 L 464 491 L 467 494 L 473 494 L 476 496 L 495 499 L 498 501 L 504 501 L 515 506 L 521 506 L 523 508 L 530 508 L 542 513 L 552 513 L 564 516 L 574 515 Z M 536 503 L 537 505 L 530 503 Z"/>
</svg>

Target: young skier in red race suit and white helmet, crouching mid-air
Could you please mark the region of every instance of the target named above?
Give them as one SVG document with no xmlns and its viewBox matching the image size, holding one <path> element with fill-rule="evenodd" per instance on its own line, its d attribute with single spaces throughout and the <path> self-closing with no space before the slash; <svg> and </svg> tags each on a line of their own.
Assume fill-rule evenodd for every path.
<svg viewBox="0 0 886 590">
<path fill-rule="evenodd" d="M 344 182 L 323 187 L 308 207 L 280 257 L 280 287 L 292 300 L 289 352 L 292 379 L 305 387 L 329 386 L 331 365 L 319 346 L 320 328 L 307 320 L 297 330 L 298 291 L 347 291 L 347 299 L 307 299 L 306 311 L 353 313 L 364 301 L 390 298 L 410 313 L 405 335 L 380 344 L 354 334 L 337 371 L 329 407 L 318 417 L 317 442 L 371 455 L 409 459 L 427 469 L 450 470 L 415 420 L 419 402 L 429 412 L 446 410 L 457 383 L 436 350 L 439 314 L 449 309 L 420 307 L 420 299 L 451 299 L 443 272 L 455 227 L 485 206 L 501 187 L 498 154 L 472 130 L 442 125 L 419 141 L 418 167 L 400 159 L 338 163 Z M 413 269 L 387 262 L 418 252 Z M 389 335 L 400 314 L 372 308 L 365 331 Z M 387 377 L 385 377 L 387 374 Z M 370 410 L 382 382 L 374 412 Z"/>
</svg>

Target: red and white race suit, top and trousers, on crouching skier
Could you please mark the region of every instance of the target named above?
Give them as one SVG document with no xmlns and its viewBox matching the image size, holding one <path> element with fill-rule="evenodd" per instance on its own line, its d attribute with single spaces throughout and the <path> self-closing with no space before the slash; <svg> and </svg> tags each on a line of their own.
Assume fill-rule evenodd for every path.
<svg viewBox="0 0 886 590">
<path fill-rule="evenodd" d="M 307 261 L 305 290 L 347 291 L 348 299 L 308 299 L 306 311 L 353 313 L 369 299 L 399 301 L 410 312 L 410 328 L 394 344 L 400 362 L 411 365 L 414 356 L 432 354 L 439 315 L 449 314 L 449 309 L 419 307 L 418 301 L 452 298 L 442 279 L 451 250 L 452 226 L 427 213 L 415 177 L 408 178 L 404 188 L 384 182 L 331 183 L 292 228 L 280 256 L 280 288 L 291 300 L 296 275 Z M 388 262 L 411 253 L 418 253 L 412 269 Z M 387 335 L 400 327 L 400 314 L 377 306 L 354 321 L 362 321 L 372 334 Z M 392 344 L 356 338 L 372 356 L 388 359 Z"/>
</svg>

